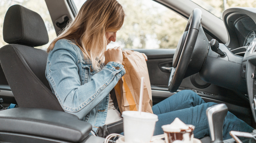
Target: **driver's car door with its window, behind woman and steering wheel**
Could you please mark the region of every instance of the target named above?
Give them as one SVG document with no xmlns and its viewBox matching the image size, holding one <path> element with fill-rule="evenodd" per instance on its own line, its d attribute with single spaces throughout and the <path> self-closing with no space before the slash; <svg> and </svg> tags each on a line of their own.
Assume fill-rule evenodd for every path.
<svg viewBox="0 0 256 143">
<path fill-rule="evenodd" d="M 65 17 L 73 19 L 83 1 L 45 0 L 56 33 L 65 23 Z M 117 41 L 108 48 L 121 46 L 145 53 L 152 88 L 153 103 L 173 95 L 167 90 L 176 45 L 184 32 L 187 19 L 194 8 L 203 11 L 202 26 L 210 41 L 227 42 L 223 21 L 190 0 L 119 0 L 126 13 L 125 23 L 117 32 Z M 56 11 L 56 7 L 63 7 Z M 72 16 L 73 15 L 73 16 Z M 216 28 L 218 27 L 218 28 Z M 206 47 L 208 48 L 208 47 Z M 204 82 L 199 74 L 183 79 L 180 90 L 189 89 L 199 94 L 206 102 L 226 103 L 229 110 L 238 117 L 251 122 L 251 111 L 246 95 Z M 234 98 L 235 97 L 235 98 Z M 250 124 L 250 123 L 249 123 Z"/>
</svg>

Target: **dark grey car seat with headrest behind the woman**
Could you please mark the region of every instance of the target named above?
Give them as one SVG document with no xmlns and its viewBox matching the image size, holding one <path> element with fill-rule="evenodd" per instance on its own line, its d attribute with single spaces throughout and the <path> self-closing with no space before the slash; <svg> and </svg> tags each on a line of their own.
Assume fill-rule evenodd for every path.
<svg viewBox="0 0 256 143">
<path fill-rule="evenodd" d="M 36 12 L 11 6 L 4 19 L 0 62 L 19 107 L 63 111 L 45 77 L 48 53 L 34 47 L 47 44 L 48 33 Z"/>
</svg>

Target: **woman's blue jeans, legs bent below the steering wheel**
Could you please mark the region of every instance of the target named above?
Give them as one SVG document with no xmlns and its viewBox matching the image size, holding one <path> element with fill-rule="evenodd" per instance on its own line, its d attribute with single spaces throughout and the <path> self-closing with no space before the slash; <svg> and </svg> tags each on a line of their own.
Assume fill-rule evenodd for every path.
<svg viewBox="0 0 256 143">
<path fill-rule="evenodd" d="M 153 113 L 158 116 L 154 135 L 163 134 L 162 125 L 170 124 L 178 117 L 185 124 L 195 126 L 194 137 L 203 138 L 209 135 L 206 109 L 216 103 L 205 103 L 203 99 L 191 90 L 182 90 L 171 97 L 153 106 Z M 224 120 L 223 139 L 229 139 L 229 131 L 251 133 L 253 130 L 248 124 L 228 112 Z"/>
</svg>

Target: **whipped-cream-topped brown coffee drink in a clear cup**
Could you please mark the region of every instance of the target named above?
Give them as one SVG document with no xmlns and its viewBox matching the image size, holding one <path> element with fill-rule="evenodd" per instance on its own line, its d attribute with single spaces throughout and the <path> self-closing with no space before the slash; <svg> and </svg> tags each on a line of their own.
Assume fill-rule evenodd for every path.
<svg viewBox="0 0 256 143">
<path fill-rule="evenodd" d="M 179 118 L 176 118 L 171 124 L 162 126 L 165 142 L 172 143 L 175 140 L 182 140 L 185 143 L 193 143 L 195 126 L 186 125 Z"/>
</svg>

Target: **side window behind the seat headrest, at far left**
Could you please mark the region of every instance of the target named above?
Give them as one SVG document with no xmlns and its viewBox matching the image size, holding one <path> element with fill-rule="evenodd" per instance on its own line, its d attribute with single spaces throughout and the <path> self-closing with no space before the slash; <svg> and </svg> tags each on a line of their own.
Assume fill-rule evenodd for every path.
<svg viewBox="0 0 256 143">
<path fill-rule="evenodd" d="M 48 12 L 48 8 L 46 6 L 46 3 L 44 0 L 2 0 L 0 2 L 1 10 L 0 10 L 0 48 L 4 45 L 7 45 L 7 43 L 3 39 L 3 23 L 4 23 L 4 17 L 9 7 L 12 5 L 21 5 L 25 8 L 28 8 L 32 11 L 37 12 L 42 19 L 44 20 L 46 29 L 48 31 L 49 35 L 49 43 L 45 44 L 43 46 L 38 46 L 35 48 L 40 48 L 46 50 L 50 44 L 50 42 L 56 38 L 56 33 L 53 28 L 53 23 L 50 17 L 50 14 Z"/>
</svg>

